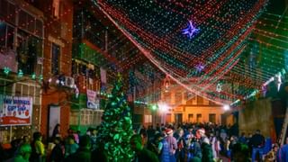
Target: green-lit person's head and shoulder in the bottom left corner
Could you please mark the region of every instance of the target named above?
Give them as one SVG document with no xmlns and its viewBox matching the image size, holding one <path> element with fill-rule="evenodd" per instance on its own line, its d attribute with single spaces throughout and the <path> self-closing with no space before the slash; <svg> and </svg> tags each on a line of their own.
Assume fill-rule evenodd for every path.
<svg viewBox="0 0 288 162">
<path fill-rule="evenodd" d="M 17 151 L 17 154 L 5 162 L 29 162 L 31 156 L 31 146 L 30 144 L 23 144 Z"/>
</svg>

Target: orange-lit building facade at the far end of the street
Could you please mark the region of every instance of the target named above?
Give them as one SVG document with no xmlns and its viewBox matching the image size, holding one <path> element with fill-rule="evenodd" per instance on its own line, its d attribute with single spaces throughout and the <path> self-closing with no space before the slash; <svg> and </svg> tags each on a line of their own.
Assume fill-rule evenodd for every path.
<svg viewBox="0 0 288 162">
<path fill-rule="evenodd" d="M 222 105 L 187 92 L 179 85 L 163 86 L 159 103 L 157 122 L 224 122 Z M 164 108 L 161 104 L 165 104 Z"/>
</svg>

